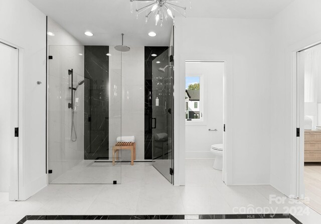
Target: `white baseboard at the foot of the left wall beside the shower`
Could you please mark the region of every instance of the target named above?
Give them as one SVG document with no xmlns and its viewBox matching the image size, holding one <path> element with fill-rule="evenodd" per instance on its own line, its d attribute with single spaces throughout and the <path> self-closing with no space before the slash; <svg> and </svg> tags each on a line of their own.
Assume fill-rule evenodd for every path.
<svg viewBox="0 0 321 224">
<path fill-rule="evenodd" d="M 47 186 L 47 174 L 42 175 L 38 179 L 24 184 L 19 187 L 19 200 L 27 200 L 29 197 Z"/>
</svg>

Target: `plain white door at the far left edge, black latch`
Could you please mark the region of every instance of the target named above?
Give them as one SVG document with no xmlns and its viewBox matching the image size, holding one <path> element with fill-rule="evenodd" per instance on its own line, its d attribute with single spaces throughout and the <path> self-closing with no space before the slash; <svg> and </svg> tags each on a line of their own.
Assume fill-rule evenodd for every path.
<svg viewBox="0 0 321 224">
<path fill-rule="evenodd" d="M 18 200 L 18 49 L 0 42 L 0 192 Z"/>
</svg>

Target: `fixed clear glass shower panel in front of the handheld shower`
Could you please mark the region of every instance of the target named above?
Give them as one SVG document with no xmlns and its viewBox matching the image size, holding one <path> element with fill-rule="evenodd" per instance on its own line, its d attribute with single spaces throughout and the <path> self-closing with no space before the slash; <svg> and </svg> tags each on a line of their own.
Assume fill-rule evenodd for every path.
<svg viewBox="0 0 321 224">
<path fill-rule="evenodd" d="M 121 57 L 109 46 L 49 45 L 49 183 L 121 183 Z M 112 65 L 111 65 L 112 63 Z"/>
</svg>

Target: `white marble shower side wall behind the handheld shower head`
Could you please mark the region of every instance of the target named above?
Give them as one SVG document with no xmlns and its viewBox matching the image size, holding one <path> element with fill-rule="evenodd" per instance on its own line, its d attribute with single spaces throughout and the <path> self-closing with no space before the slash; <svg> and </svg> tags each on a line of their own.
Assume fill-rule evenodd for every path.
<svg viewBox="0 0 321 224">
<path fill-rule="evenodd" d="M 71 140 L 72 110 L 71 75 L 73 85 L 84 79 L 84 46 L 50 45 L 49 55 L 49 169 L 53 172 L 49 182 L 84 159 L 84 84 L 75 92 L 74 123 L 77 140 Z M 73 135 L 74 136 L 74 135 Z"/>
</svg>

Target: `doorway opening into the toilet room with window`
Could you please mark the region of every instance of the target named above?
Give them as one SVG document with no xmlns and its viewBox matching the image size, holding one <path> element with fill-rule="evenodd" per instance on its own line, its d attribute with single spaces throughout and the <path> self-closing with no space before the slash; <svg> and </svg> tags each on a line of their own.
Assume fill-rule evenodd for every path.
<svg viewBox="0 0 321 224">
<path fill-rule="evenodd" d="M 185 61 L 186 185 L 225 185 L 225 61 Z"/>
</svg>

